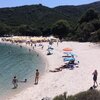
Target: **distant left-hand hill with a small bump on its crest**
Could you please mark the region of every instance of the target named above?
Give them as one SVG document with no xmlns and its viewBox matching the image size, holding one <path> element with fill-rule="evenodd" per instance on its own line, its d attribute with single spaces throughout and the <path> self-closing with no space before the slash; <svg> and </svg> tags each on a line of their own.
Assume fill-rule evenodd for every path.
<svg viewBox="0 0 100 100">
<path fill-rule="evenodd" d="M 47 26 L 59 19 L 66 17 L 41 4 L 0 9 L 0 22 L 11 26 L 21 24 Z"/>
</svg>

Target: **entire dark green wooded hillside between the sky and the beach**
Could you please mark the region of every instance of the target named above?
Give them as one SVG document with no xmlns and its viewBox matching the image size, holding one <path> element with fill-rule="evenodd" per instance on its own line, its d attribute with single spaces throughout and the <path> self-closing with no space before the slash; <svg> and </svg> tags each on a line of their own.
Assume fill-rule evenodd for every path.
<svg viewBox="0 0 100 100">
<path fill-rule="evenodd" d="M 100 2 L 49 8 L 39 5 L 0 9 L 0 36 L 49 36 L 100 41 Z"/>
</svg>

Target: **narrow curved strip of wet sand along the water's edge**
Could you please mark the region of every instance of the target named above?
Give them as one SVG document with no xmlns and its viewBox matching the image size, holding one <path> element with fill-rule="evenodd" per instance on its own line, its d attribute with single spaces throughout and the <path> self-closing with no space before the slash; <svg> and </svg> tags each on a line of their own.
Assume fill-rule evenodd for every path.
<svg viewBox="0 0 100 100">
<path fill-rule="evenodd" d="M 16 43 L 10 43 L 10 42 L 3 42 L 3 41 L 0 41 L 0 43 L 1 44 L 5 44 L 5 45 L 12 45 L 12 46 L 17 46 L 17 47 L 19 47 L 20 48 L 20 46 L 22 46 L 23 48 L 26 48 L 26 49 L 31 49 L 31 52 L 35 52 L 35 54 L 37 55 L 37 54 L 39 54 L 39 56 L 41 56 L 41 58 L 42 58 L 42 61 L 44 62 L 44 61 L 46 61 L 46 63 L 44 64 L 45 65 L 45 69 L 44 69 L 44 71 L 41 73 L 41 77 L 46 73 L 46 71 L 47 71 L 47 68 L 48 68 L 48 63 L 47 63 L 47 59 L 46 59 L 46 57 L 38 50 L 38 49 L 34 49 L 34 50 L 32 50 L 32 47 L 30 47 L 29 45 L 25 45 L 25 44 L 16 44 Z M 33 83 L 33 84 L 32 84 Z M 33 87 L 33 86 L 35 86 L 34 85 L 34 80 L 31 80 L 31 84 L 28 86 L 27 85 L 27 88 L 26 89 L 28 89 L 28 88 L 31 88 L 31 87 Z M 24 91 L 24 90 L 26 90 L 26 89 L 23 89 L 22 91 Z M 16 91 L 16 90 L 15 90 Z M 14 92 L 15 92 L 14 91 Z M 22 91 L 19 91 L 19 92 L 15 92 L 14 94 L 13 94 L 13 96 L 12 96 L 12 94 L 8 94 L 7 96 L 5 96 L 4 97 L 4 99 L 6 99 L 6 100 L 9 100 L 9 99 L 11 99 L 11 98 L 13 98 L 15 95 L 17 95 L 17 94 L 19 94 L 20 92 L 22 92 Z M 2 98 L 2 100 L 4 100 L 3 98 Z"/>
</svg>

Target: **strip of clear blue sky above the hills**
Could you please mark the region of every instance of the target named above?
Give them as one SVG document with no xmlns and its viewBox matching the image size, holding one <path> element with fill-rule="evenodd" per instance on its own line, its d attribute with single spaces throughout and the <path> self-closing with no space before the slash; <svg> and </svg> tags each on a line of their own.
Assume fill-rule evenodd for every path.
<svg viewBox="0 0 100 100">
<path fill-rule="evenodd" d="M 0 8 L 32 4 L 42 4 L 47 7 L 56 7 L 60 5 L 82 5 L 96 1 L 100 0 L 0 0 Z"/>
</svg>

